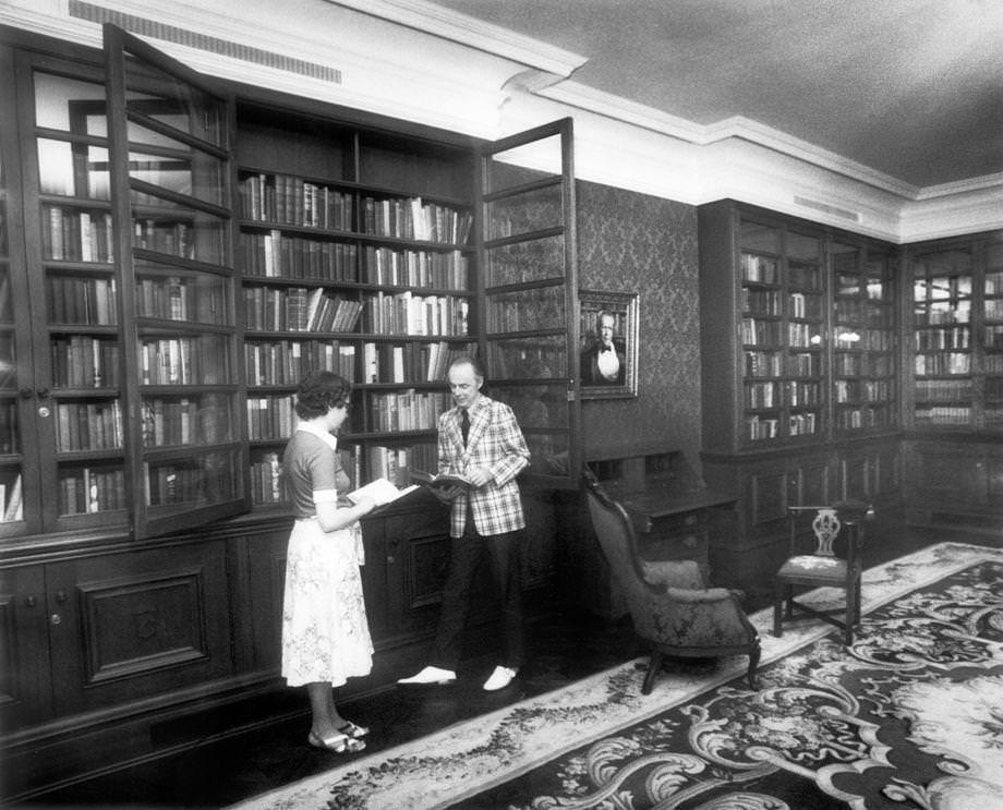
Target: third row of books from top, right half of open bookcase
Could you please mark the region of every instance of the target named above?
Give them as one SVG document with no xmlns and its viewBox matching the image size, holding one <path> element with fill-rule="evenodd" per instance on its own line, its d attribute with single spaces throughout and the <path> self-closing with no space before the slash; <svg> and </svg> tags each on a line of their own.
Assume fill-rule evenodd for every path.
<svg viewBox="0 0 1003 810">
<path fill-rule="evenodd" d="M 466 298 L 380 291 L 365 297 L 362 328 L 375 335 L 463 336 L 469 312 Z"/>
</svg>

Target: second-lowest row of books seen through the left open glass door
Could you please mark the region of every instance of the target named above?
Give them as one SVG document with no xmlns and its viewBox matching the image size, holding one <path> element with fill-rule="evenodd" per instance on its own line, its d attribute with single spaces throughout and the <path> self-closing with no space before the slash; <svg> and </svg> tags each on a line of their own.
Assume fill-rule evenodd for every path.
<svg viewBox="0 0 1003 810">
<path fill-rule="evenodd" d="M 225 395 L 143 400 L 144 447 L 230 442 L 233 426 L 230 400 Z"/>
</svg>

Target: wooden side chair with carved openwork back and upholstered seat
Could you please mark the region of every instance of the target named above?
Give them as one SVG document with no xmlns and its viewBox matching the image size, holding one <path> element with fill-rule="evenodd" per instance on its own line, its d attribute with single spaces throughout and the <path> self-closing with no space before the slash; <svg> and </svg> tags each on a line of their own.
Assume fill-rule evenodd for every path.
<svg viewBox="0 0 1003 810">
<path fill-rule="evenodd" d="M 773 634 L 783 634 L 783 621 L 808 614 L 843 630 L 844 643 L 854 643 L 854 628 L 860 622 L 860 558 L 863 523 L 874 510 L 862 501 L 841 501 L 832 506 L 791 506 L 790 556 L 776 572 L 773 600 Z M 803 553 L 803 537 L 810 521 L 814 551 Z M 799 553 L 801 552 L 801 553 Z M 795 599 L 795 588 L 837 588 L 845 591 L 845 605 L 818 609 Z"/>
</svg>

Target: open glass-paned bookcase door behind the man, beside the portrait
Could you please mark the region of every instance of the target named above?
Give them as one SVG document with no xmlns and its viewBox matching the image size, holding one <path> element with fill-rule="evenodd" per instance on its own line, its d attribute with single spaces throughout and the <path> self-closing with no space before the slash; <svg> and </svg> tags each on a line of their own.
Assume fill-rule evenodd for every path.
<svg viewBox="0 0 1003 810">
<path fill-rule="evenodd" d="M 581 413 L 570 118 L 482 152 L 480 220 L 481 352 L 491 394 L 522 427 L 527 483 L 575 487 Z"/>
</svg>

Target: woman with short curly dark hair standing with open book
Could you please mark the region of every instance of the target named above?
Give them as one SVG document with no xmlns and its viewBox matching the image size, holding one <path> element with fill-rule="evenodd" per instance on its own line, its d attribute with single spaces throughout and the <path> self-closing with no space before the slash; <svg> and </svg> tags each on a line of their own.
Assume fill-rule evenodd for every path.
<svg viewBox="0 0 1003 810">
<path fill-rule="evenodd" d="M 335 687 L 368 675 L 373 643 L 362 599 L 362 530 L 372 498 L 343 498 L 348 475 L 337 454 L 337 433 L 349 409 L 351 383 L 331 372 L 311 372 L 297 389 L 295 432 L 282 469 L 297 521 L 289 535 L 282 605 L 282 676 L 306 686 L 313 721 L 307 742 L 342 753 L 361 751 L 368 729 L 346 721 Z"/>
</svg>

